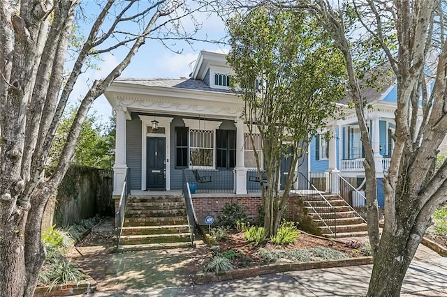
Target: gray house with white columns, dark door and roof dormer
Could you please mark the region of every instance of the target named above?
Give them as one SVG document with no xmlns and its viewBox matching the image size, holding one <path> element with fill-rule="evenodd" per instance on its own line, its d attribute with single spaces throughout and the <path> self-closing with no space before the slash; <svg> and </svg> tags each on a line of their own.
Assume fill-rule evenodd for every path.
<svg viewBox="0 0 447 297">
<path fill-rule="evenodd" d="M 117 114 L 114 195 L 131 190 L 259 190 L 254 151 L 230 91 L 224 54 L 202 51 L 189 79 L 119 78 L 105 92 Z M 261 139 L 255 142 L 261 148 Z M 262 154 L 261 154 L 262 158 Z M 307 176 L 307 158 L 300 172 Z M 286 164 L 286 160 L 285 160 Z"/>
</svg>

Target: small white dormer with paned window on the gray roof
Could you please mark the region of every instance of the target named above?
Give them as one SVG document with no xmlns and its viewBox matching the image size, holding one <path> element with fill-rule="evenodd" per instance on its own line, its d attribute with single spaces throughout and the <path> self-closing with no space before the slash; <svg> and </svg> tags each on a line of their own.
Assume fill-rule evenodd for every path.
<svg viewBox="0 0 447 297">
<path fill-rule="evenodd" d="M 226 63 L 226 54 L 203 50 L 198 54 L 191 78 L 202 80 L 212 89 L 228 90 L 231 75 L 230 66 Z"/>
</svg>

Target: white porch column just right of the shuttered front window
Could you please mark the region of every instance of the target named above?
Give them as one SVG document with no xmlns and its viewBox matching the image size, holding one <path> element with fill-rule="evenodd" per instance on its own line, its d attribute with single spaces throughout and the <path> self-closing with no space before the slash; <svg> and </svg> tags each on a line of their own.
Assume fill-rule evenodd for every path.
<svg viewBox="0 0 447 297">
<path fill-rule="evenodd" d="M 244 121 L 236 121 L 236 167 L 235 167 L 235 192 L 247 194 L 247 169 L 244 165 Z"/>
</svg>

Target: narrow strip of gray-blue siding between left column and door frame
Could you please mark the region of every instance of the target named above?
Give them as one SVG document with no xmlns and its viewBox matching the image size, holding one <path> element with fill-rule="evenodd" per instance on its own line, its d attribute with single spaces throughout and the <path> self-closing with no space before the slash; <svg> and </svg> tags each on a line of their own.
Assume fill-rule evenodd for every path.
<svg viewBox="0 0 447 297">
<path fill-rule="evenodd" d="M 131 169 L 131 190 L 141 190 L 141 120 L 131 114 L 126 123 L 126 162 Z"/>
</svg>

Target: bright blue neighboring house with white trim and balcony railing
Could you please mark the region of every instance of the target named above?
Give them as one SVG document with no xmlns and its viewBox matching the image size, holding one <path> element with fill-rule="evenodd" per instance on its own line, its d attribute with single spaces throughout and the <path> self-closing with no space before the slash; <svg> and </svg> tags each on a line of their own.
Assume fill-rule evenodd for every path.
<svg viewBox="0 0 447 297">
<path fill-rule="evenodd" d="M 430 88 L 429 88 L 430 89 Z M 362 89 L 362 96 L 367 100 L 365 118 L 372 139 L 379 206 L 384 206 L 383 176 L 388 172 L 394 141 L 391 137 L 395 131 L 395 109 L 397 108 L 397 86 L 388 79 L 382 83 L 380 90 Z M 346 103 L 346 102 L 344 102 Z M 420 127 L 422 114 L 417 122 Z M 356 188 L 363 188 L 365 169 L 363 160 L 365 152 L 360 141 L 360 128 L 355 109 L 346 109 L 344 116 L 328 123 L 328 130 L 335 135 L 329 141 L 321 135 L 314 137 L 309 147 L 310 176 L 321 176 L 322 172 L 335 172 Z M 329 184 L 329 183 L 328 183 Z"/>
</svg>

